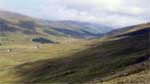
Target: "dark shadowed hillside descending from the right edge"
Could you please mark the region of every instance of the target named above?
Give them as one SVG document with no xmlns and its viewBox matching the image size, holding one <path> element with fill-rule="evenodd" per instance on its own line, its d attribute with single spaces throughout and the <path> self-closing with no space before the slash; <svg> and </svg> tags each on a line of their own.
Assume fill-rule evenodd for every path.
<svg viewBox="0 0 150 84">
<path fill-rule="evenodd" d="M 149 32 L 149 27 L 131 28 L 68 57 L 22 64 L 16 67 L 19 82 L 101 84 L 148 70 Z"/>
</svg>

